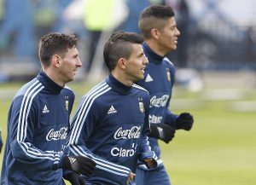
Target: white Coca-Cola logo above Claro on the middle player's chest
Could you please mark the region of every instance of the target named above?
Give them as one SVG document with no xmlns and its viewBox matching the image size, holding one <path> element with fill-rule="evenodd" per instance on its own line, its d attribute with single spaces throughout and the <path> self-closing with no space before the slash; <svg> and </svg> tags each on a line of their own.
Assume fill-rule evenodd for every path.
<svg viewBox="0 0 256 185">
<path fill-rule="evenodd" d="M 113 135 L 113 138 L 116 140 L 119 139 L 132 139 L 132 138 L 139 138 L 141 133 L 141 126 L 133 126 L 131 129 L 123 130 L 120 127 Z"/>
</svg>

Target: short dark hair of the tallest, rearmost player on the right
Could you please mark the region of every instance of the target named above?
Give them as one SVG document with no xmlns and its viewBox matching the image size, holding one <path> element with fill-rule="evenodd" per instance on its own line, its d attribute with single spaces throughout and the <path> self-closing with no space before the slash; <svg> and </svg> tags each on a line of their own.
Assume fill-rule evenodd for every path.
<svg viewBox="0 0 256 185">
<path fill-rule="evenodd" d="M 172 7 L 165 5 L 152 5 L 143 9 L 140 15 L 138 26 L 145 39 L 151 37 L 151 30 L 156 28 L 161 30 L 166 26 L 166 20 L 174 16 Z"/>
</svg>

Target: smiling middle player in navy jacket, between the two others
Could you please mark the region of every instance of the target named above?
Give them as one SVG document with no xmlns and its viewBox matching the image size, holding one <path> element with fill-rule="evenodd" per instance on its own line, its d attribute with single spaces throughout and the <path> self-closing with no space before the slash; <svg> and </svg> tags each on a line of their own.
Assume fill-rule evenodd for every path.
<svg viewBox="0 0 256 185">
<path fill-rule="evenodd" d="M 134 84 L 148 64 L 142 43 L 137 33 L 113 33 L 103 51 L 110 74 L 84 95 L 75 112 L 69 147 L 96 161 L 88 184 L 131 183 L 137 159 L 149 169 L 157 165 L 148 146 L 148 91 Z"/>
</svg>

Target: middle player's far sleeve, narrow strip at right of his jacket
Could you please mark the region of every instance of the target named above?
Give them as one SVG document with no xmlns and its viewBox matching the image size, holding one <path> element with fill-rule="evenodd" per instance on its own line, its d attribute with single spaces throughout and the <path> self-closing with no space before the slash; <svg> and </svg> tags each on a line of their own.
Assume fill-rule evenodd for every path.
<svg viewBox="0 0 256 185">
<path fill-rule="evenodd" d="M 150 134 L 150 125 L 148 121 L 148 110 L 149 110 L 149 96 L 147 101 L 145 101 L 145 118 L 143 124 L 143 130 L 140 137 L 140 145 L 138 150 L 138 159 L 144 163 L 144 159 L 154 159 L 157 160 L 157 156 L 154 151 L 151 150 L 148 142 L 148 135 Z"/>
</svg>

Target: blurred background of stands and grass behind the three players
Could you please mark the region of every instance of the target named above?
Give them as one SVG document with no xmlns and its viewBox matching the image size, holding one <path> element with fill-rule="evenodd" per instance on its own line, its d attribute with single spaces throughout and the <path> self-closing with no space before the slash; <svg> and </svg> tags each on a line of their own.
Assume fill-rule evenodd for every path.
<svg viewBox="0 0 256 185">
<path fill-rule="evenodd" d="M 68 84 L 77 104 L 107 75 L 102 59 L 106 39 L 116 30 L 139 32 L 139 14 L 150 4 L 175 10 L 181 36 L 177 50 L 167 55 L 177 67 L 170 108 L 195 117 L 193 130 L 177 131 L 171 144 L 161 143 L 172 183 L 254 185 L 255 0 L 0 0 L 3 141 L 10 101 L 40 70 L 39 38 L 48 32 L 79 36 L 83 68 Z"/>
</svg>

